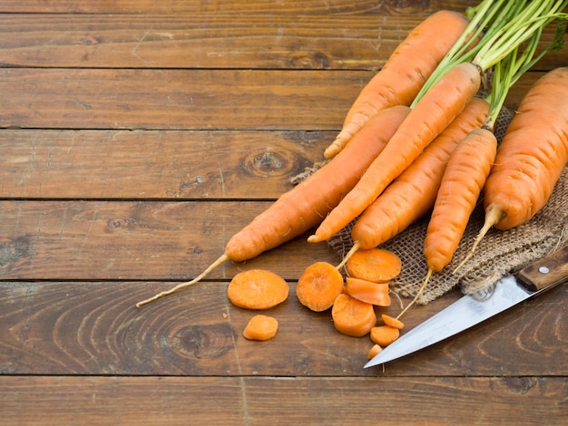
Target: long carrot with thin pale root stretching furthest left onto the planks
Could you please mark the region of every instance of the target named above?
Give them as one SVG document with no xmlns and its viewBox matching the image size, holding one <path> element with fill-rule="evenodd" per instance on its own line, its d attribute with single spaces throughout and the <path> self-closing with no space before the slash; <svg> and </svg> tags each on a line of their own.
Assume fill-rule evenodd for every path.
<svg viewBox="0 0 568 426">
<path fill-rule="evenodd" d="M 143 300 L 136 306 L 140 307 L 201 281 L 211 270 L 227 260 L 242 262 L 257 257 L 318 225 L 331 208 L 337 206 L 340 199 L 355 187 L 359 177 L 385 148 L 409 111 L 408 107 L 396 106 L 378 113 L 351 140 L 349 148 L 341 151 L 341 155 L 284 193 L 249 225 L 231 237 L 225 252 L 200 276 Z"/>
</svg>

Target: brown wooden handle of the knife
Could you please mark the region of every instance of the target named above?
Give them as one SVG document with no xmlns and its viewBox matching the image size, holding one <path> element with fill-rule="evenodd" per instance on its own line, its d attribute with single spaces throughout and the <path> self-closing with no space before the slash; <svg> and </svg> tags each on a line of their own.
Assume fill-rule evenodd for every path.
<svg viewBox="0 0 568 426">
<path fill-rule="evenodd" d="M 529 290 L 543 290 L 568 279 L 568 246 L 521 269 L 517 279 Z"/>
</svg>

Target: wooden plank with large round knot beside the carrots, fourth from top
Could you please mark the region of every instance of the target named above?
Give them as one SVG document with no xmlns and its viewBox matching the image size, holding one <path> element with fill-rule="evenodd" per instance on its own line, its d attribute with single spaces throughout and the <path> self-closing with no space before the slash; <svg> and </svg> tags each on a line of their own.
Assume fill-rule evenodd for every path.
<svg viewBox="0 0 568 426">
<path fill-rule="evenodd" d="M 336 132 L 0 131 L 0 198 L 278 198 Z"/>
</svg>

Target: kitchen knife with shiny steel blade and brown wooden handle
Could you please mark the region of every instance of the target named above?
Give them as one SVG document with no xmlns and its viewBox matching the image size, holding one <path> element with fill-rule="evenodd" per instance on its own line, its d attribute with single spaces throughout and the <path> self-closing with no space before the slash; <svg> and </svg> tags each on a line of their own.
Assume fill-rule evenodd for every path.
<svg viewBox="0 0 568 426">
<path fill-rule="evenodd" d="M 568 280 L 568 246 L 501 278 L 490 292 L 465 295 L 400 336 L 365 364 L 387 363 L 461 333 L 504 310 Z"/>
</svg>

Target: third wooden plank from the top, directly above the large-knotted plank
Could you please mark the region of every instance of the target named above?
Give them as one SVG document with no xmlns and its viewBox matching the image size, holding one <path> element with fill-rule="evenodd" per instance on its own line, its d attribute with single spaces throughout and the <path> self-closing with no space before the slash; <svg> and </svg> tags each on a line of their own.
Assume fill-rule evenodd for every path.
<svg viewBox="0 0 568 426">
<path fill-rule="evenodd" d="M 373 74 L 4 69 L 0 128 L 338 131 Z M 539 75 L 517 83 L 514 102 Z"/>
</svg>

